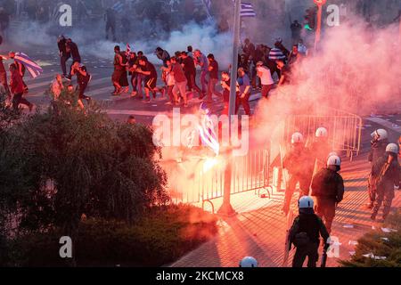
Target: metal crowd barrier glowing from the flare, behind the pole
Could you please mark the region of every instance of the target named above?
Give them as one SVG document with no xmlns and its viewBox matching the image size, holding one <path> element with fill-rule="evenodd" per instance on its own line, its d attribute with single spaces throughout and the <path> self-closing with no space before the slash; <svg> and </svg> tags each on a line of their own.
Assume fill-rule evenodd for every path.
<svg viewBox="0 0 401 285">
<path fill-rule="evenodd" d="M 182 174 L 169 176 L 169 191 L 174 203 L 201 203 L 212 205 L 213 199 L 222 198 L 225 191 L 225 163 L 218 158 L 201 159 L 197 163 L 182 164 Z M 270 195 L 270 153 L 267 150 L 249 151 L 246 156 L 233 157 L 231 194 L 266 190 Z M 170 167 L 171 168 L 171 167 Z M 171 169 L 170 169 L 171 170 Z M 188 174 L 186 174 L 188 172 Z"/>
</svg>

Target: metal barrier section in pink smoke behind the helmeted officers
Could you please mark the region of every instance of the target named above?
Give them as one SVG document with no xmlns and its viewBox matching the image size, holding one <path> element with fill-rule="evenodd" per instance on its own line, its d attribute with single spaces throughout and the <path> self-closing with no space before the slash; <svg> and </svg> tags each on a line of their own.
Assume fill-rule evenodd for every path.
<svg viewBox="0 0 401 285">
<path fill-rule="evenodd" d="M 291 115 L 284 129 L 285 142 L 291 141 L 295 132 L 303 134 L 310 142 L 317 128 L 328 130 L 328 139 L 333 151 L 344 151 L 348 158 L 358 155 L 361 148 L 362 118 L 342 110 L 324 110 L 317 115 Z"/>
</svg>

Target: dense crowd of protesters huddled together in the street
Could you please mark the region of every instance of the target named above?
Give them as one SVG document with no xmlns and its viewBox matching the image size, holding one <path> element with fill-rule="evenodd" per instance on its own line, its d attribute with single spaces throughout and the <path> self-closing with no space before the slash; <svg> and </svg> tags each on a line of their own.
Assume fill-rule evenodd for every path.
<svg viewBox="0 0 401 285">
<path fill-rule="evenodd" d="M 151 97 L 156 99 L 160 94 L 168 98 L 168 105 L 187 107 L 189 96 L 197 96 L 207 103 L 213 102 L 215 96 L 225 102 L 224 112 L 228 109 L 231 67 L 222 70 L 213 53 L 204 53 L 189 45 L 186 50 L 176 51 L 171 56 L 167 50 L 157 47 L 154 54 L 158 62 L 151 62 L 142 51 L 131 51 L 129 46 L 123 51 L 116 45 L 114 53 L 111 79 L 115 87 L 114 96 L 129 93 L 131 85 L 131 96 L 144 102 L 151 102 Z M 251 115 L 249 101 L 252 92 L 260 91 L 262 97 L 268 99 L 274 87 L 291 82 L 291 69 L 305 56 L 307 47 L 302 39 L 288 50 L 280 38 L 276 39 L 274 47 L 255 46 L 247 38 L 238 55 L 236 111 L 242 106 L 245 114 Z M 157 65 L 161 66 L 159 73 Z"/>
</svg>

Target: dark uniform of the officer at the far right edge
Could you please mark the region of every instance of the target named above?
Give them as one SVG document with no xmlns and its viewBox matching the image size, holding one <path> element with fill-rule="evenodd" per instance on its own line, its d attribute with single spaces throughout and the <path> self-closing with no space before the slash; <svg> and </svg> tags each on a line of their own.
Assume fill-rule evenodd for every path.
<svg viewBox="0 0 401 285">
<path fill-rule="evenodd" d="M 385 152 L 372 167 L 372 187 L 374 187 L 377 194 L 373 206 L 372 220 L 376 218 L 383 202 L 383 219 L 386 219 L 389 215 L 391 203 L 395 197 L 394 185 L 399 187 L 399 177 L 400 166 L 397 154 Z"/>
</svg>

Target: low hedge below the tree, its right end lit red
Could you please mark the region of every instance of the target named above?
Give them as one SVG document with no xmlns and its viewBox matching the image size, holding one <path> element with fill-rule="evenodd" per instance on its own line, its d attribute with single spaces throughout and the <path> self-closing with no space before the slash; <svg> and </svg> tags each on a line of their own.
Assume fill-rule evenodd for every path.
<svg viewBox="0 0 401 285">
<path fill-rule="evenodd" d="M 88 219 L 74 243 L 78 266 L 160 266 L 209 240 L 216 218 L 199 208 L 154 208 L 135 224 Z M 8 266 L 67 266 L 59 256 L 59 230 L 20 236 L 8 242 Z M 0 261 L 0 265 L 2 262 Z"/>
</svg>

